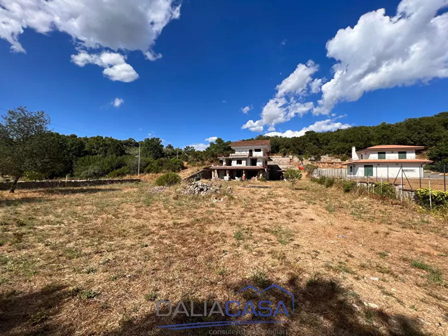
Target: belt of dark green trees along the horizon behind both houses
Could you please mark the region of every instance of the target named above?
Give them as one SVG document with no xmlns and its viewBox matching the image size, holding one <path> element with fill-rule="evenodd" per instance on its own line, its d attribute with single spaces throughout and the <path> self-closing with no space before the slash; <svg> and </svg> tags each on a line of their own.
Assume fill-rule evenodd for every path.
<svg viewBox="0 0 448 336">
<path fill-rule="evenodd" d="M 164 146 L 158 137 L 135 141 L 112 137 L 78 137 L 49 129 L 50 118 L 44 111 L 31 112 L 25 107 L 9 110 L 0 122 L 0 174 L 13 178 L 41 180 L 65 177 L 93 179 L 137 174 L 138 149 L 141 146 L 140 172 L 179 172 L 184 162 L 207 164 L 221 153 L 234 152 L 231 141 L 217 138 L 205 150 L 192 146 Z M 328 132 L 308 131 L 301 137 L 259 135 L 270 139 L 271 151 L 283 155 L 302 155 L 319 160 L 323 154 L 348 158 L 351 147 L 358 149 L 378 144 L 421 145 L 428 158 L 448 163 L 448 112 L 431 117 L 411 118 L 377 126 L 356 126 Z"/>
</svg>

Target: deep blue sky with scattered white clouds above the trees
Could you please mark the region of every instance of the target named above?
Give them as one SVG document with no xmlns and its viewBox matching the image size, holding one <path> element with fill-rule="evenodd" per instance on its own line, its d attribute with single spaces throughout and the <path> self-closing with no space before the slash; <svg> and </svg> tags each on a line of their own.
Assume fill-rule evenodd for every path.
<svg viewBox="0 0 448 336">
<path fill-rule="evenodd" d="M 446 0 L 33 3 L 0 0 L 0 108 L 60 133 L 203 148 L 447 110 Z"/>
</svg>

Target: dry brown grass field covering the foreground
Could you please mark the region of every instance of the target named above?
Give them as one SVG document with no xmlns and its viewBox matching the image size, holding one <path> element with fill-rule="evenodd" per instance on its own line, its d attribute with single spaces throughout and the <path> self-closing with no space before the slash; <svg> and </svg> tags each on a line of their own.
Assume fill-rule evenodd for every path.
<svg viewBox="0 0 448 336">
<path fill-rule="evenodd" d="M 209 334 L 157 328 L 173 320 L 155 301 L 272 283 L 295 295 L 293 316 L 222 330 L 448 333 L 443 219 L 305 180 L 223 183 L 223 202 L 151 194 L 153 180 L 0 193 L 0 334 Z"/>
</svg>

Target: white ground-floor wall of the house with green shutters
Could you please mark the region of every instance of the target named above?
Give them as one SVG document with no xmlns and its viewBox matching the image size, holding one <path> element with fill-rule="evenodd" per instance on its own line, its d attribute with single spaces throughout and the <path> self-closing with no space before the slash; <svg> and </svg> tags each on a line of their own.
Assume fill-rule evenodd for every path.
<svg viewBox="0 0 448 336">
<path fill-rule="evenodd" d="M 398 178 L 401 179 L 401 163 L 366 163 L 366 165 L 369 164 L 373 165 L 373 177 L 387 178 L 387 175 L 389 174 L 389 178 L 398 176 Z M 387 166 L 389 166 L 389 169 Z M 423 168 L 419 163 L 403 163 L 403 173 L 403 178 L 405 178 L 405 176 L 407 178 L 419 178 L 420 176 L 423 177 Z M 350 172 L 350 166 L 347 166 L 347 176 L 364 177 L 364 164 L 354 164 L 353 172 Z"/>
</svg>

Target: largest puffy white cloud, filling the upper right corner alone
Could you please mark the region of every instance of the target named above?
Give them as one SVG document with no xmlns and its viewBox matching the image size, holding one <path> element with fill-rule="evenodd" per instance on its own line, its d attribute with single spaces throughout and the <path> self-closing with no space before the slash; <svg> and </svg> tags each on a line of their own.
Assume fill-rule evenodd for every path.
<svg viewBox="0 0 448 336">
<path fill-rule="evenodd" d="M 329 114 L 365 92 L 448 77 L 448 13 L 437 15 L 446 6 L 447 0 L 402 0 L 394 17 L 380 9 L 339 30 L 327 43 L 327 56 L 338 61 L 334 77 L 313 113 Z"/>
</svg>

